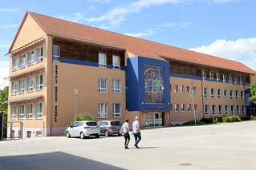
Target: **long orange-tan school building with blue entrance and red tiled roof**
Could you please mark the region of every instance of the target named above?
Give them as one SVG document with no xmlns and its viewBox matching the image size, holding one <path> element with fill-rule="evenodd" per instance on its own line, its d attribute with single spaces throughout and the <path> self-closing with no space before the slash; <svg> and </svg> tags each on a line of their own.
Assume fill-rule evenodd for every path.
<svg viewBox="0 0 256 170">
<path fill-rule="evenodd" d="M 9 136 L 62 135 L 76 108 L 95 121 L 138 116 L 142 128 L 251 113 L 254 70 L 238 61 L 31 12 L 9 53 L 8 121 L 23 127 Z"/>
</svg>

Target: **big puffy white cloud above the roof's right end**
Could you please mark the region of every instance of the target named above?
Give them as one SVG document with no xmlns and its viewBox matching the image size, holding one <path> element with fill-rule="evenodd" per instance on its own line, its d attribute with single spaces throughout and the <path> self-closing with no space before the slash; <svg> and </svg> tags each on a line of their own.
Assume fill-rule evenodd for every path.
<svg viewBox="0 0 256 170">
<path fill-rule="evenodd" d="M 241 61 L 251 69 L 256 70 L 256 38 L 241 38 L 235 41 L 219 39 L 210 45 L 202 45 L 190 50 Z"/>
</svg>

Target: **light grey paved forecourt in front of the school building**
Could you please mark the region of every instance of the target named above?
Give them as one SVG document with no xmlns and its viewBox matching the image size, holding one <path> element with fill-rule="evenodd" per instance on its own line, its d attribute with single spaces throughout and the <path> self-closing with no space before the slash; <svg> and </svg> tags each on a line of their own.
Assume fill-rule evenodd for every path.
<svg viewBox="0 0 256 170">
<path fill-rule="evenodd" d="M 0 169 L 256 169 L 256 121 L 141 132 L 140 149 L 123 136 L 0 141 Z"/>
</svg>

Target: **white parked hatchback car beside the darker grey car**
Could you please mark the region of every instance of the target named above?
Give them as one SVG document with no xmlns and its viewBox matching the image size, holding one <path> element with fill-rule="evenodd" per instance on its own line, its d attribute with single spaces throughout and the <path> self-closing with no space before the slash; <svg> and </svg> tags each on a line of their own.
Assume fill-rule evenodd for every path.
<svg viewBox="0 0 256 170">
<path fill-rule="evenodd" d="M 100 137 L 100 126 L 95 121 L 75 121 L 70 127 L 67 128 L 66 136 L 80 136 L 81 139 L 85 136 Z"/>
</svg>

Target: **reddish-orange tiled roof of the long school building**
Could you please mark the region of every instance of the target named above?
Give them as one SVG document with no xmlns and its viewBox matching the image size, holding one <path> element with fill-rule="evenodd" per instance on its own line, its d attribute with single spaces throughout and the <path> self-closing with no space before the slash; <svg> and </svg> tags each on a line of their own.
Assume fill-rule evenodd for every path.
<svg viewBox="0 0 256 170">
<path fill-rule="evenodd" d="M 116 34 L 111 31 L 100 30 L 91 26 L 84 26 L 75 22 L 67 22 L 62 19 L 51 18 L 43 14 L 26 12 L 22 23 L 24 22 L 27 14 L 29 14 L 35 20 L 35 22 L 38 23 L 38 25 L 46 34 L 51 34 L 62 38 L 71 38 L 83 42 L 108 45 L 120 49 L 127 49 L 135 56 L 150 57 L 158 60 L 165 60 L 162 57 L 168 57 L 201 65 L 231 69 L 239 72 L 251 74 L 255 73 L 253 69 L 250 69 L 249 67 L 243 65 L 241 62 L 238 61 L 227 60 L 221 57 L 214 57 L 204 53 L 197 53 L 188 49 L 181 49 L 171 45 L 151 42 L 148 40 L 134 38 L 124 34 Z M 21 27 L 22 24 L 20 28 Z M 17 37 L 17 34 L 14 38 L 14 41 Z M 12 49 L 13 44 L 10 46 L 10 50 Z"/>
</svg>

